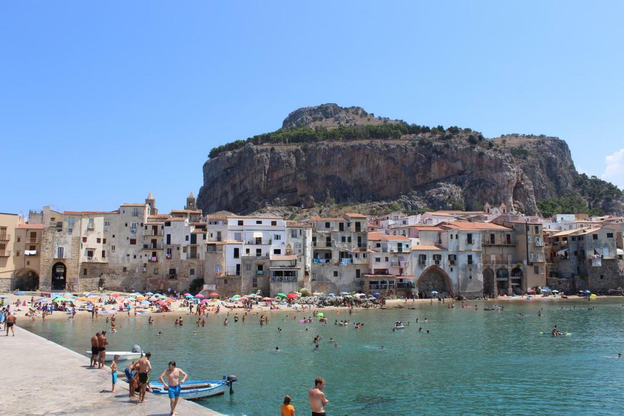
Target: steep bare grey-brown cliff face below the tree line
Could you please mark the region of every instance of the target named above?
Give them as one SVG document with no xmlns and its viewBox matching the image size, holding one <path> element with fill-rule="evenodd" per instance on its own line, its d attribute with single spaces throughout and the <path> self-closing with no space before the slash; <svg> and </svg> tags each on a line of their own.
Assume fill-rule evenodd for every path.
<svg viewBox="0 0 624 416">
<path fill-rule="evenodd" d="M 529 156 L 521 159 L 495 149 L 409 138 L 247 144 L 205 162 L 197 205 L 203 212 L 242 214 L 271 205 L 309 207 L 328 197 L 336 203 L 401 197 L 414 207 L 472 209 L 504 202 L 536 214 L 535 200 L 565 194 L 577 172 L 567 144 L 556 137 L 524 146 Z"/>
</svg>

